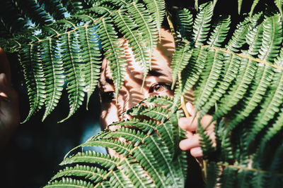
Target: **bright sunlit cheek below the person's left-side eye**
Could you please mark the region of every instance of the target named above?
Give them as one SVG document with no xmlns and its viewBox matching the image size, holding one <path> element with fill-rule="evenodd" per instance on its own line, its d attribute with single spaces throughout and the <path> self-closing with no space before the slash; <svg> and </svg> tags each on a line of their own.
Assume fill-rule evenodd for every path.
<svg viewBox="0 0 283 188">
<path fill-rule="evenodd" d="M 118 120 L 119 118 L 117 115 L 117 107 L 115 106 L 115 104 L 108 104 L 107 106 L 102 106 L 100 123 L 103 129 L 111 123 L 117 122 Z"/>
</svg>

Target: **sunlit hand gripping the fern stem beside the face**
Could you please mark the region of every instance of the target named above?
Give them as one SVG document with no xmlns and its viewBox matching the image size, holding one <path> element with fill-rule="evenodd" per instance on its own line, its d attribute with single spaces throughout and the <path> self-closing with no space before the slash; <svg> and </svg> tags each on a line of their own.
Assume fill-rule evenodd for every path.
<svg viewBox="0 0 283 188">
<path fill-rule="evenodd" d="M 189 102 L 186 104 L 187 111 L 190 113 L 190 115 L 195 115 L 195 109 L 192 106 L 192 104 Z M 211 115 L 204 115 L 202 120 L 200 120 L 200 124 L 202 127 L 206 127 L 210 121 L 212 120 Z M 178 122 L 179 126 L 183 129 L 186 130 L 186 137 L 187 139 L 183 139 L 179 146 L 180 149 L 187 151 L 190 150 L 190 153 L 194 157 L 202 157 L 202 149 L 200 147 L 200 134 L 195 134 L 195 131 L 197 130 L 197 124 L 198 124 L 198 114 L 193 120 L 193 117 L 189 118 L 180 118 Z M 209 137 L 212 139 L 212 141 L 215 143 L 215 134 L 214 134 L 214 124 L 209 125 L 207 127 L 207 130 L 205 132 L 209 135 Z"/>
</svg>

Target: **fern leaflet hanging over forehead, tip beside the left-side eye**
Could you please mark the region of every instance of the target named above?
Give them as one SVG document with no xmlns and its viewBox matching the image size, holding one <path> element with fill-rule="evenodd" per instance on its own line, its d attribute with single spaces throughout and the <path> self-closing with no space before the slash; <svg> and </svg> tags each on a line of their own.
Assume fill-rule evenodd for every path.
<svg viewBox="0 0 283 188">
<path fill-rule="evenodd" d="M 98 35 L 102 41 L 105 58 L 110 62 L 110 70 L 115 83 L 115 97 L 124 82 L 125 55 L 121 42 L 117 39 L 117 32 L 111 24 L 110 18 L 103 18 L 99 23 Z"/>
</svg>

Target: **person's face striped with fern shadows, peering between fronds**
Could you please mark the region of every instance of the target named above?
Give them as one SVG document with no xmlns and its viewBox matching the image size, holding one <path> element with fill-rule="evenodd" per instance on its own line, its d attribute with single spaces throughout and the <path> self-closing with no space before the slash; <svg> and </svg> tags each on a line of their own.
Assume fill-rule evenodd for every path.
<svg viewBox="0 0 283 188">
<path fill-rule="evenodd" d="M 119 115 L 149 96 L 173 96 L 170 63 L 175 47 L 171 33 L 166 30 L 161 31 L 161 42 L 153 51 L 151 70 L 146 75 L 143 88 L 141 84 L 144 75 L 141 65 L 135 61 L 132 49 L 129 48 L 127 42 L 124 41 L 124 44 L 127 66 L 125 82 L 117 97 L 117 105 L 109 62 L 106 58 L 103 59 L 99 83 L 102 127 L 117 122 L 121 118 L 129 118 L 126 115 L 124 117 L 119 117 Z"/>
</svg>

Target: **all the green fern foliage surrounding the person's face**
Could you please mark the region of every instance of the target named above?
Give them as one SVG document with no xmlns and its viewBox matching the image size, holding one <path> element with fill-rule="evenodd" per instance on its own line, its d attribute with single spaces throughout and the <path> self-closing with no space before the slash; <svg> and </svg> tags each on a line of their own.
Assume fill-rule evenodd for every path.
<svg viewBox="0 0 283 188">
<path fill-rule="evenodd" d="M 113 123 L 81 144 L 108 147 L 120 158 L 76 153 L 64 159 L 61 165 L 68 166 L 46 187 L 184 187 L 190 167 L 178 149 L 184 138 L 178 108 L 190 89 L 198 117 L 209 113 L 214 122 L 197 129 L 207 187 L 283 186 L 282 1 L 272 1 L 273 6 L 266 1 L 263 8 L 259 5 L 265 1 L 252 1 L 245 14 L 241 8 L 246 1 L 239 0 L 238 19 L 218 15 L 216 2 L 198 6 L 195 1 L 197 11 L 180 8 L 174 17 L 178 20 L 168 18 L 176 32 L 171 64 L 175 99 L 151 96 L 125 112 L 134 118 Z M 19 54 L 30 99 L 26 120 L 42 106 L 45 119 L 57 106 L 65 82 L 67 118 L 74 114 L 98 83 L 103 55 L 110 61 L 117 96 L 127 63 L 120 37 L 127 39 L 145 77 L 166 9 L 164 1 L 147 0 L 5 4 L 14 14 L 1 18 L 0 44 Z M 34 28 L 27 29 L 28 20 Z M 118 128 L 111 132 L 112 126 Z M 209 126 L 214 126 L 215 146 L 207 135 Z"/>
</svg>

